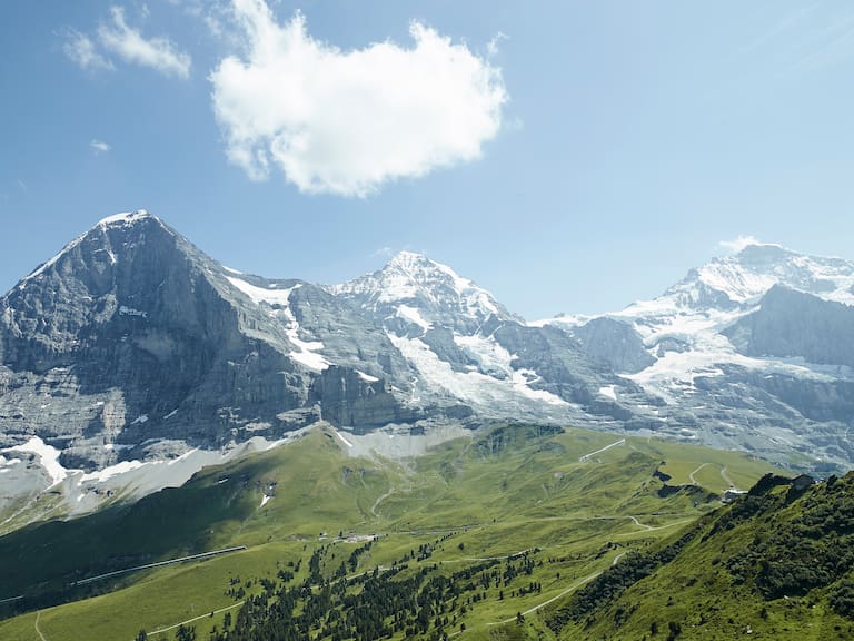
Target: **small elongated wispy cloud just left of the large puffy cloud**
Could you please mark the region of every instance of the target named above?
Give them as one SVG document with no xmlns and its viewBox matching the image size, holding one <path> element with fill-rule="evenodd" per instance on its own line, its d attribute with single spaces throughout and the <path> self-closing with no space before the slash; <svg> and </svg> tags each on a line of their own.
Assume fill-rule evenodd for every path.
<svg viewBox="0 0 854 641">
<path fill-rule="evenodd" d="M 166 76 L 188 78 L 192 61 L 189 53 L 176 49 L 168 38 L 150 38 L 128 27 L 125 10 L 110 7 L 111 23 L 98 28 L 98 40 L 126 62 L 151 67 Z"/>
</svg>

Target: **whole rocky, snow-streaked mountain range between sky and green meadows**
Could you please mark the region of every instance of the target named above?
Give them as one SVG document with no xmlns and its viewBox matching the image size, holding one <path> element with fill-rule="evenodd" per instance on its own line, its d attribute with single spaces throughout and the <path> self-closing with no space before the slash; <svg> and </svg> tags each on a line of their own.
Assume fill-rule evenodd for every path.
<svg viewBox="0 0 854 641">
<path fill-rule="evenodd" d="M 838 469 L 854 461 L 854 376 L 832 347 L 846 325 L 765 354 L 800 323 L 774 305 L 781 286 L 803 289 L 805 314 L 845 315 L 854 264 L 751 246 L 652 302 L 526 323 L 420 254 L 337 286 L 269 279 L 148 211 L 116 215 L 0 298 L 0 452 L 39 438 L 95 471 L 318 421 L 365 433 L 524 418 Z"/>
</svg>

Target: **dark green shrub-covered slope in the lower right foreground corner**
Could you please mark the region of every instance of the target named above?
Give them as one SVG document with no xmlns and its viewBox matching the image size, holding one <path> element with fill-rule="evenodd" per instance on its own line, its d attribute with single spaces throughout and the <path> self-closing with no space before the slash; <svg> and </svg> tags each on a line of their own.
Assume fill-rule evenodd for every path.
<svg viewBox="0 0 854 641">
<path fill-rule="evenodd" d="M 626 558 L 544 622 L 567 639 L 851 639 L 854 474 L 802 492 L 778 482 L 703 517 L 682 546 Z"/>
</svg>

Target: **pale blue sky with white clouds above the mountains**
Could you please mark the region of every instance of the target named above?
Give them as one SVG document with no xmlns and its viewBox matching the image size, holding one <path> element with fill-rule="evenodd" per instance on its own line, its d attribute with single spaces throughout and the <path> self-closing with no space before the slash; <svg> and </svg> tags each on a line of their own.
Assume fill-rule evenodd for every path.
<svg viewBox="0 0 854 641">
<path fill-rule="evenodd" d="M 336 283 L 425 252 L 534 319 L 753 236 L 854 258 L 848 2 L 0 8 L 0 289 L 147 208 Z"/>
</svg>

